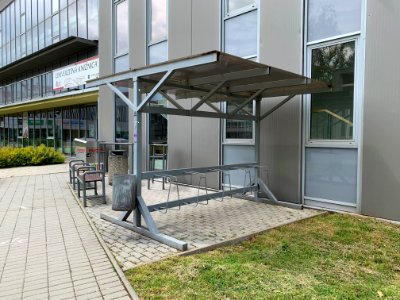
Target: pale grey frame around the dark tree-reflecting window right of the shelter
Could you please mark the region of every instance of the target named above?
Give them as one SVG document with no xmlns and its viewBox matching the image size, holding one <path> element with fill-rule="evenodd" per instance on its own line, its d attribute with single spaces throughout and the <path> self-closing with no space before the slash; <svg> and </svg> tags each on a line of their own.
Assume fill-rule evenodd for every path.
<svg viewBox="0 0 400 300">
<path fill-rule="evenodd" d="M 328 140 L 311 139 L 311 95 L 304 96 L 305 102 L 305 146 L 306 147 L 335 147 L 335 148 L 357 148 L 359 144 L 360 111 L 362 97 L 362 70 L 360 57 L 362 56 L 360 35 L 347 35 L 324 41 L 321 43 L 310 43 L 306 49 L 306 76 L 311 77 L 312 51 L 315 49 L 334 46 L 338 44 L 354 42 L 354 98 L 353 98 L 353 138 L 350 140 Z"/>
</svg>

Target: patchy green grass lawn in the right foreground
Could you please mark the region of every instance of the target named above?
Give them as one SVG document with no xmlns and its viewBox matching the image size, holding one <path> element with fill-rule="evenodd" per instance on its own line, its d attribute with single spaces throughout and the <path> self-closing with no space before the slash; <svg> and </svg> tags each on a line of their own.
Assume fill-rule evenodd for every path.
<svg viewBox="0 0 400 300">
<path fill-rule="evenodd" d="M 400 299 L 400 226 L 325 214 L 126 275 L 144 299 Z"/>
</svg>

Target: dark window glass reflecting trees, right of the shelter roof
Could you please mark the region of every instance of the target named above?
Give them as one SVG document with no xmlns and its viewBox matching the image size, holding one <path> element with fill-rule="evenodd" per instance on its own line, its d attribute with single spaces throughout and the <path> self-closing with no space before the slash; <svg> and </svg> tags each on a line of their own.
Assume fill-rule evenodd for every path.
<svg viewBox="0 0 400 300">
<path fill-rule="evenodd" d="M 355 42 L 311 50 L 312 78 L 332 84 L 333 92 L 311 96 L 310 138 L 352 140 Z"/>
</svg>

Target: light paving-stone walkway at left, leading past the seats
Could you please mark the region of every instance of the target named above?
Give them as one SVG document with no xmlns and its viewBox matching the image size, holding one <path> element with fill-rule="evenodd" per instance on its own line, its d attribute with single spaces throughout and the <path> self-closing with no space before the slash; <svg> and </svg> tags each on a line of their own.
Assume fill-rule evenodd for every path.
<svg viewBox="0 0 400 300">
<path fill-rule="evenodd" d="M 0 172 L 0 299 L 131 299 L 66 173 L 18 169 Z"/>
</svg>

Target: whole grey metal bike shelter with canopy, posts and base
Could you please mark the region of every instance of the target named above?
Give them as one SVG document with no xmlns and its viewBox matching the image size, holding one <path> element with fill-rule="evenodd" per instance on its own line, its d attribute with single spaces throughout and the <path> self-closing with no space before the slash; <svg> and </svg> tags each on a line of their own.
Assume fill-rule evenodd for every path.
<svg viewBox="0 0 400 300">
<path fill-rule="evenodd" d="M 260 164 L 260 122 L 295 95 L 330 90 L 324 82 L 219 51 L 170 60 L 98 78 L 87 83 L 88 88 L 100 85 L 107 85 L 134 112 L 133 175 L 136 176 L 137 193 L 135 210 L 122 212 L 119 218 L 104 214 L 101 218 L 182 251 L 187 250 L 187 243 L 160 233 L 151 212 L 249 191 L 254 192 L 255 200 L 258 200 L 258 191 L 262 191 L 269 200 L 279 203 L 260 178 L 258 167 Z M 129 98 L 120 91 L 119 87 L 132 89 Z M 151 100 L 154 101 L 156 95 L 162 95 L 168 105 L 166 107 L 152 105 Z M 278 96 L 286 97 L 269 111 L 261 114 L 261 101 L 268 101 L 269 97 Z M 179 104 L 179 100 L 189 98 L 197 98 L 199 101 L 190 109 Z M 243 108 L 254 100 L 256 101 L 255 113 L 249 114 Z M 235 109 L 226 113 L 219 108 L 220 102 L 232 103 Z M 205 106 L 208 106 L 208 110 L 201 110 Z M 256 161 L 249 164 L 144 172 L 142 170 L 143 137 L 141 136 L 143 113 L 254 121 Z M 141 183 L 145 179 L 226 172 L 242 168 L 254 168 L 255 184 L 150 206 L 146 205 L 142 197 Z M 128 221 L 131 214 L 133 214 L 132 222 Z M 141 224 L 142 216 L 146 227 Z"/>
</svg>

